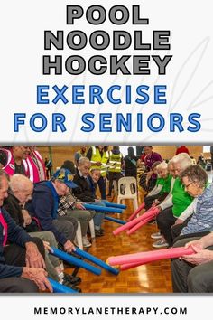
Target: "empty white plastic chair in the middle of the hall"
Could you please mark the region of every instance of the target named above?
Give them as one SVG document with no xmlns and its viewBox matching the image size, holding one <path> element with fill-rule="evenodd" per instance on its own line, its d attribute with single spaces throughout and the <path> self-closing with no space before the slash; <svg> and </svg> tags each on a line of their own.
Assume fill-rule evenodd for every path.
<svg viewBox="0 0 213 320">
<path fill-rule="evenodd" d="M 125 176 L 118 180 L 117 203 L 121 203 L 123 199 L 133 200 L 134 211 L 138 208 L 137 181 L 132 176 Z"/>
</svg>

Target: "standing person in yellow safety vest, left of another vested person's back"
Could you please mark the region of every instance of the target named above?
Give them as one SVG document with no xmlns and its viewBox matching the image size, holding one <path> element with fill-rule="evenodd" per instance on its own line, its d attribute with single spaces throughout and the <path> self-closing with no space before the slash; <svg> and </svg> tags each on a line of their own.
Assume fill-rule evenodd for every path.
<svg viewBox="0 0 213 320">
<path fill-rule="evenodd" d="M 92 169 L 100 169 L 101 177 L 98 180 L 98 187 L 101 199 L 106 200 L 106 165 L 109 160 L 108 146 L 91 146 L 88 149 L 87 157 L 91 162 Z"/>
</svg>

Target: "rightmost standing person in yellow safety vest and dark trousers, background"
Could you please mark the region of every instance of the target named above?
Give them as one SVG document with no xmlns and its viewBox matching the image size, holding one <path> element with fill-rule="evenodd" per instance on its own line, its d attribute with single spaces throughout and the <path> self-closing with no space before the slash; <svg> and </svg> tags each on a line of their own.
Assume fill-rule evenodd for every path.
<svg viewBox="0 0 213 320">
<path fill-rule="evenodd" d="M 123 164 L 123 155 L 120 152 L 119 146 L 113 146 L 112 151 L 109 152 L 109 163 L 108 165 L 108 180 L 109 180 L 109 187 L 108 187 L 108 196 L 111 196 L 112 189 L 113 189 L 113 181 L 116 180 L 116 187 L 118 184 L 118 180 L 123 176 L 121 174 Z M 114 190 L 116 192 L 116 190 Z"/>
</svg>

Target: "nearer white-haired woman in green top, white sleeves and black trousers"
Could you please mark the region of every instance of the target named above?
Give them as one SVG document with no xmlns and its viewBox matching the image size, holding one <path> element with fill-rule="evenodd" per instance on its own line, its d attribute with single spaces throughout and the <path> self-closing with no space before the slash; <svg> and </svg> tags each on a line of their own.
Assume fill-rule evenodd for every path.
<svg viewBox="0 0 213 320">
<path fill-rule="evenodd" d="M 159 205 L 159 209 L 163 210 L 157 216 L 157 225 L 161 231 L 162 239 L 154 242 L 153 248 L 171 247 L 171 226 L 193 201 L 192 196 L 186 193 L 182 187 L 180 179 L 183 170 L 191 165 L 190 156 L 187 154 L 175 155 L 172 157 L 172 165 L 176 179 L 172 188 L 171 198 L 166 203 Z"/>
</svg>

